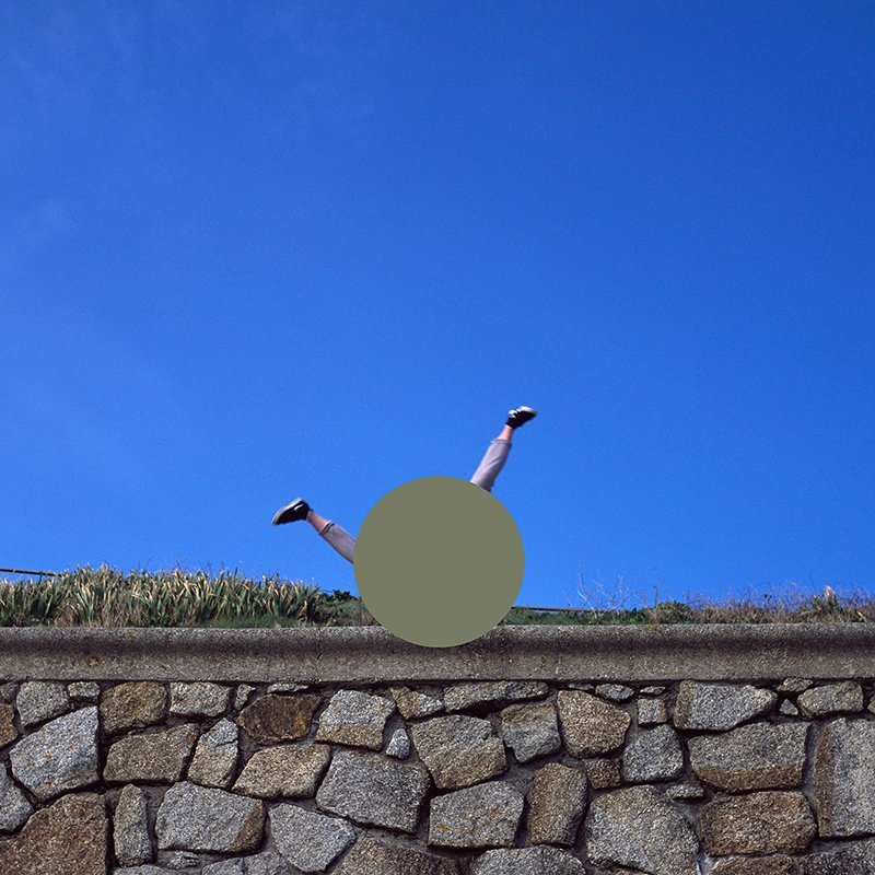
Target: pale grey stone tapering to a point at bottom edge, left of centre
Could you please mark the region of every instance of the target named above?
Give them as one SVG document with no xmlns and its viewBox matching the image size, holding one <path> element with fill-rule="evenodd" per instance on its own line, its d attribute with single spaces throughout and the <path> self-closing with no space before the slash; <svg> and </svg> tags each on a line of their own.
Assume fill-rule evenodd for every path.
<svg viewBox="0 0 875 875">
<path fill-rule="evenodd" d="M 296 805 L 278 805 L 269 816 L 273 844 L 302 872 L 324 872 L 355 841 L 355 830 L 346 820 Z"/>
</svg>

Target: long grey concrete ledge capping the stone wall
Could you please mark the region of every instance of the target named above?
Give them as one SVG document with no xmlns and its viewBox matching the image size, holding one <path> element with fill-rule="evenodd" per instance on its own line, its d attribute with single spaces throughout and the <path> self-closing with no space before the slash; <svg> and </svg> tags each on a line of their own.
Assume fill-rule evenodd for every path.
<svg viewBox="0 0 875 875">
<path fill-rule="evenodd" d="M 2 680 L 371 682 L 875 677 L 875 625 L 501 626 L 421 648 L 383 627 L 0 629 Z"/>
</svg>

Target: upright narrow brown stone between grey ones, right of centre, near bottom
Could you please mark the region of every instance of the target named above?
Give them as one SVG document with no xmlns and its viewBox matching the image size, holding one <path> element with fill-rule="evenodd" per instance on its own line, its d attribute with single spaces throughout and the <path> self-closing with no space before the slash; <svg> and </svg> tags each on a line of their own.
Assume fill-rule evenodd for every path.
<svg viewBox="0 0 875 875">
<path fill-rule="evenodd" d="M 559 762 L 538 769 L 528 791 L 532 844 L 574 844 L 586 805 L 586 775 Z"/>
</svg>

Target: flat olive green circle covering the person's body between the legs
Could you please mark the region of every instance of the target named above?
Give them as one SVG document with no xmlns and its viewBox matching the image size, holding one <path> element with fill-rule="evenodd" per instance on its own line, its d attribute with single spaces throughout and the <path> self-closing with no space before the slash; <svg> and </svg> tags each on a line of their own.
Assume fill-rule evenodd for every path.
<svg viewBox="0 0 875 875">
<path fill-rule="evenodd" d="M 525 565 L 506 508 L 456 477 L 422 477 L 387 492 L 359 529 L 354 556 L 374 619 L 429 648 L 466 644 L 497 626 Z"/>
</svg>

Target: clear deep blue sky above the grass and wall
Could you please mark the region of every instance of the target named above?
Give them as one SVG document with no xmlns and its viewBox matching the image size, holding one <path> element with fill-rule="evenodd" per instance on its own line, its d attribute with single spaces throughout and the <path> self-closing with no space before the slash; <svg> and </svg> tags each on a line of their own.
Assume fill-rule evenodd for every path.
<svg viewBox="0 0 875 875">
<path fill-rule="evenodd" d="M 0 565 L 358 592 L 394 487 L 518 604 L 875 588 L 871 2 L 0 7 Z"/>
</svg>

